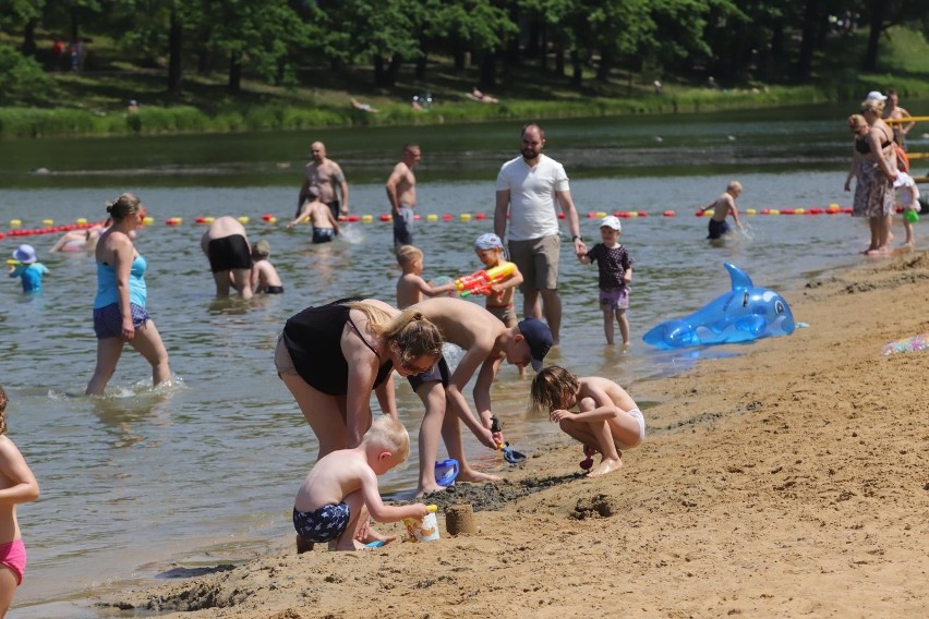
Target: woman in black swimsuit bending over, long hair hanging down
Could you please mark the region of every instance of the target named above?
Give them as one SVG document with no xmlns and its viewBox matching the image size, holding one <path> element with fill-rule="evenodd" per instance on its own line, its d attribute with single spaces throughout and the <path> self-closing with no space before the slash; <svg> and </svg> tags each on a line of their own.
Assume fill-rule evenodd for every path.
<svg viewBox="0 0 929 619">
<path fill-rule="evenodd" d="M 277 372 L 319 442 L 318 458 L 355 447 L 371 426 L 371 391 L 397 418 L 393 373 L 422 374 L 442 354 L 442 331 L 422 313 L 377 301 L 309 307 L 283 327 Z"/>
</svg>

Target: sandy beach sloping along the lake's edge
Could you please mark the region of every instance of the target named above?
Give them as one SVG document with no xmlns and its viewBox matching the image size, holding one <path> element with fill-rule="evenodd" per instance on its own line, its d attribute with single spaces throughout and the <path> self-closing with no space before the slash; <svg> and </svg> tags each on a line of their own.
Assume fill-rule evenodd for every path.
<svg viewBox="0 0 929 619">
<path fill-rule="evenodd" d="M 649 432 L 617 473 L 584 478 L 559 436 L 438 501 L 471 503 L 476 534 L 449 536 L 439 512 L 432 543 L 298 556 L 291 535 L 100 602 L 242 619 L 929 616 L 929 351 L 881 354 L 929 331 L 929 255 L 780 292 L 810 327 L 638 386 Z"/>
</svg>

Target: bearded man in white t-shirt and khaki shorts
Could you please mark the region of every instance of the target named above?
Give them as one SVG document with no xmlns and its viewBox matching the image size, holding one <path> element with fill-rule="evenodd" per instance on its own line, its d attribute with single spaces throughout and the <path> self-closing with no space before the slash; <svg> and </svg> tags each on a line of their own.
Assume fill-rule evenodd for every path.
<svg viewBox="0 0 929 619">
<path fill-rule="evenodd" d="M 562 300 L 558 298 L 558 258 L 562 253 L 560 228 L 555 202 L 565 213 L 575 254 L 586 254 L 580 236 L 578 211 L 571 201 L 565 168 L 545 155 L 545 132 L 534 122 L 522 128 L 521 157 L 500 167 L 497 175 L 497 202 L 494 232 L 503 239 L 509 213 L 509 257 L 524 278 L 522 312 L 526 317 L 545 315 L 552 340 L 558 343 L 562 326 Z M 542 298 L 542 312 L 539 298 Z"/>
</svg>

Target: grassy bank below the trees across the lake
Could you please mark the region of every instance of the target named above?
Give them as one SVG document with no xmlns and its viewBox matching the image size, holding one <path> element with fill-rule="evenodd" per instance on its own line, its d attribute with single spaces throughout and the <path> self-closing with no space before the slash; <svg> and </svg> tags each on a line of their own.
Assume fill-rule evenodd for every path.
<svg viewBox="0 0 929 619">
<path fill-rule="evenodd" d="M 300 130 L 321 126 L 417 125 L 496 120 L 610 117 L 642 113 L 686 113 L 797 106 L 825 101 L 857 101 L 868 90 L 896 88 L 904 101 L 929 98 L 929 45 L 924 35 L 901 29 L 885 37 L 880 73 L 849 70 L 843 59 L 859 53 L 861 41 L 830 50 L 818 59 L 808 85 L 769 85 L 747 80 L 723 84 L 722 89 L 699 87 L 693 80 L 667 77 L 655 94 L 653 73 L 615 73 L 607 82 L 584 75 L 583 87 L 572 88 L 566 77 L 526 68 L 519 75 L 502 76 L 491 93 L 500 102 L 484 104 L 468 97 L 474 71 L 455 72 L 439 59 L 431 63 L 429 80 L 418 82 L 412 69 L 401 72 L 390 89 L 370 87 L 370 70 L 355 68 L 334 73 L 307 69 L 302 83 L 315 86 L 280 88 L 245 81 L 232 96 L 220 74 L 185 74 L 184 92 L 169 97 L 161 70 L 141 69 L 119 59 L 106 40 L 96 41 L 94 70 L 53 73 L 61 92 L 60 107 L 0 108 L 0 137 L 61 135 L 131 135 L 167 133 L 229 133 Z M 414 96 L 430 93 L 426 110 L 411 106 Z M 354 109 L 354 97 L 378 109 Z M 126 102 L 136 99 L 137 111 Z"/>
</svg>

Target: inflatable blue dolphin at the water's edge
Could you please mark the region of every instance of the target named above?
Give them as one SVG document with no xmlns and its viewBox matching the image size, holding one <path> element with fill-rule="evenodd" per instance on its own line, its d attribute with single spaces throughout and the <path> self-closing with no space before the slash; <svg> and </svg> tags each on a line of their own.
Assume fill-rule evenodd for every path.
<svg viewBox="0 0 929 619">
<path fill-rule="evenodd" d="M 642 339 L 666 350 L 746 342 L 794 332 L 794 315 L 783 296 L 755 288 L 751 278 L 726 263 L 733 289 L 679 320 L 654 327 Z"/>
</svg>

